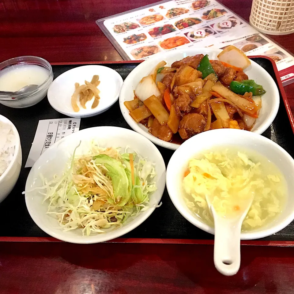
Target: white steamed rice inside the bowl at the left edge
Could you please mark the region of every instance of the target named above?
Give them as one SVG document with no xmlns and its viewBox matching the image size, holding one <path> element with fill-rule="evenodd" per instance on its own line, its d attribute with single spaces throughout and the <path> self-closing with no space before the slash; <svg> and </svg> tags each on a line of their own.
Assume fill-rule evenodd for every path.
<svg viewBox="0 0 294 294">
<path fill-rule="evenodd" d="M 8 168 L 15 151 L 15 135 L 12 127 L 0 122 L 0 177 Z"/>
</svg>

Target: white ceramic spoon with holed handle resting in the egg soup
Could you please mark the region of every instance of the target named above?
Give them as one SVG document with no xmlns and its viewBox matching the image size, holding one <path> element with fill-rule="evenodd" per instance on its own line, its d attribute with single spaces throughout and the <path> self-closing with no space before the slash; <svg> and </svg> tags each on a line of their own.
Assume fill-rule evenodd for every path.
<svg viewBox="0 0 294 294">
<path fill-rule="evenodd" d="M 252 204 L 248 199 L 238 216 L 227 218 L 216 213 L 208 197 L 206 201 L 214 219 L 214 265 L 225 276 L 236 274 L 240 268 L 240 234 L 241 226 Z"/>
</svg>

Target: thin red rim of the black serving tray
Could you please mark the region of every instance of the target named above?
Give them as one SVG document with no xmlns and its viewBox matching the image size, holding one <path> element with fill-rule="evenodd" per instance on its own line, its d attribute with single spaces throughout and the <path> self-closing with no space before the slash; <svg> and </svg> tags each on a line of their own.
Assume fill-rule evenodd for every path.
<svg viewBox="0 0 294 294">
<path fill-rule="evenodd" d="M 262 55 L 248 56 L 249 58 L 266 58 L 272 65 L 277 77 L 278 86 L 284 101 L 289 121 L 294 133 L 294 119 L 289 102 L 279 77 L 276 63 L 272 58 Z M 115 63 L 141 63 L 143 61 L 98 61 L 98 62 L 53 62 L 51 65 L 74 65 L 74 64 L 115 64 Z M 63 242 L 53 237 L 0 237 L 0 242 Z M 152 239 L 152 238 L 116 238 L 108 243 L 151 243 L 151 244 L 198 244 L 198 245 L 213 245 L 213 240 L 193 240 L 193 239 Z M 241 245 L 249 246 L 279 246 L 279 247 L 294 247 L 294 241 L 264 241 L 264 240 L 242 240 Z"/>
</svg>

